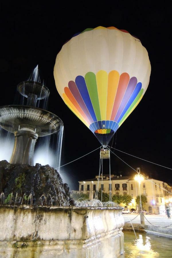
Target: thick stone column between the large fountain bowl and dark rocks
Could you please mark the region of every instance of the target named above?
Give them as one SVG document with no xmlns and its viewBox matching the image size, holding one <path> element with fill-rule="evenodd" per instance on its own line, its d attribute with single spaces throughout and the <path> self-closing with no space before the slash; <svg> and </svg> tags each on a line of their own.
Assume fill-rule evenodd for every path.
<svg viewBox="0 0 172 258">
<path fill-rule="evenodd" d="M 28 164 L 34 166 L 34 148 L 38 134 L 29 128 L 15 131 L 15 143 L 10 160 L 12 164 Z"/>
</svg>

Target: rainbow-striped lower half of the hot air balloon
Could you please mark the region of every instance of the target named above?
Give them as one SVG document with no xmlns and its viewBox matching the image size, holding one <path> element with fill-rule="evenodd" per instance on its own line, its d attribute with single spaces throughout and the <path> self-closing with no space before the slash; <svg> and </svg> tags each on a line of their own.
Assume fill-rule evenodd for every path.
<svg viewBox="0 0 172 258">
<path fill-rule="evenodd" d="M 112 75 L 118 78 L 115 90 L 112 87 Z M 85 77 L 77 76 L 75 82 L 70 81 L 68 87 L 64 88 L 63 97 L 70 109 L 77 111 L 78 117 L 89 125 L 89 129 L 105 145 L 119 128 L 119 124 L 122 124 L 135 100 L 140 101 L 143 93 L 142 84 L 137 83 L 136 77 L 130 78 L 127 73 L 118 75 L 117 71 L 109 74 L 99 71 L 96 75 L 88 72 Z M 113 101 L 110 101 L 111 96 Z"/>
</svg>

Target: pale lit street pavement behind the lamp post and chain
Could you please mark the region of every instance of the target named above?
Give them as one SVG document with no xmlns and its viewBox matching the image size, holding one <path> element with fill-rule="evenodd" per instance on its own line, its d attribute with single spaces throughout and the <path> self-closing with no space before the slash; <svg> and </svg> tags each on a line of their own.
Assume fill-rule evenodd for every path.
<svg viewBox="0 0 172 258">
<path fill-rule="evenodd" d="M 137 213 L 131 213 L 131 214 L 123 214 L 124 216 L 124 222 L 128 222 L 129 219 L 132 220 L 133 218 L 135 218 L 138 214 Z M 144 216 L 147 218 L 147 220 L 155 225 L 155 226 L 168 226 L 170 224 L 172 224 L 172 216 L 171 219 L 167 218 L 167 215 L 148 215 L 148 214 L 144 214 Z M 145 224 L 150 225 L 149 222 L 146 219 L 144 219 Z M 135 218 L 134 220 L 131 221 L 132 223 L 139 223 L 140 224 L 140 215 L 137 216 L 137 218 Z M 170 228 L 172 228 L 172 225 L 169 226 Z"/>
</svg>

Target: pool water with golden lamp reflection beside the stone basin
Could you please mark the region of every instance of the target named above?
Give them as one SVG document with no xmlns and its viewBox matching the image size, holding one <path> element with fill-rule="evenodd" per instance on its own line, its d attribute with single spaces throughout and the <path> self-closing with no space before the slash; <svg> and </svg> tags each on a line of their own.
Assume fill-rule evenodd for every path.
<svg viewBox="0 0 172 258">
<path fill-rule="evenodd" d="M 172 239 L 145 232 L 136 232 L 137 240 L 134 232 L 124 232 L 124 249 L 125 254 L 120 257 L 171 257 L 172 256 Z"/>
</svg>

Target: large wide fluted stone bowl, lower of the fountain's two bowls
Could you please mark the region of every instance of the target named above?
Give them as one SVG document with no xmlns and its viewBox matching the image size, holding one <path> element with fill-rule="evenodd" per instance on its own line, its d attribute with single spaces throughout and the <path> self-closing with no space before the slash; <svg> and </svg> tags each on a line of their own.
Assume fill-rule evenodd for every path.
<svg viewBox="0 0 172 258">
<path fill-rule="evenodd" d="M 0 107 L 0 126 L 8 132 L 28 128 L 46 136 L 58 132 L 62 125 L 62 120 L 47 110 L 24 105 Z"/>
</svg>

